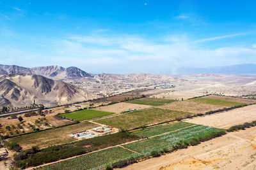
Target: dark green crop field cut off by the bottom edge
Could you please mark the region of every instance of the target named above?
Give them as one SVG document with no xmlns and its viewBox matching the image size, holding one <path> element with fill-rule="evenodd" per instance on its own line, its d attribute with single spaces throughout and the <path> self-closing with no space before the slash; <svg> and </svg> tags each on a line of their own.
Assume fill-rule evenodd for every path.
<svg viewBox="0 0 256 170">
<path fill-rule="evenodd" d="M 40 167 L 40 170 L 70 170 L 70 169 L 102 169 L 106 164 L 111 165 L 118 160 L 138 157 L 138 153 L 125 150 L 121 147 L 109 148 L 99 152 L 89 153 L 81 157 L 65 160 L 49 166 Z"/>
</svg>

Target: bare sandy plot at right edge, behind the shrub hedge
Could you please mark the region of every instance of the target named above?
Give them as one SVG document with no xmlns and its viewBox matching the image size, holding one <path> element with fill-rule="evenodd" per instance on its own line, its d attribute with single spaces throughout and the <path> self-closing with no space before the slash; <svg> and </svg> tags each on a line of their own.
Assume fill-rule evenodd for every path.
<svg viewBox="0 0 256 170">
<path fill-rule="evenodd" d="M 244 106 L 204 117 L 188 118 L 185 122 L 228 129 L 229 127 L 256 120 L 256 105 Z"/>
</svg>

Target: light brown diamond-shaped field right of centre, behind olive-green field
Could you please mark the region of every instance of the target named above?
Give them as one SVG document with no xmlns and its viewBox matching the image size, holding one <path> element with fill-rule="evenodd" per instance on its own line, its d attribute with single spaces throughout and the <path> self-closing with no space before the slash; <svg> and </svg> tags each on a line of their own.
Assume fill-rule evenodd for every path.
<svg viewBox="0 0 256 170">
<path fill-rule="evenodd" d="M 214 104 L 197 103 L 193 101 L 177 101 L 170 104 L 164 104 L 163 106 L 157 106 L 157 108 L 179 110 L 191 113 L 205 113 L 207 111 L 219 110 L 225 107 Z"/>
</svg>

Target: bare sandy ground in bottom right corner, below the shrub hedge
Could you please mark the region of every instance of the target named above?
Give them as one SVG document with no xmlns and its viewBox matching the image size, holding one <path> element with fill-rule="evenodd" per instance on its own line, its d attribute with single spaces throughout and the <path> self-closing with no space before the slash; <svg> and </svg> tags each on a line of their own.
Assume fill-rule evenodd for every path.
<svg viewBox="0 0 256 170">
<path fill-rule="evenodd" d="M 122 169 L 255 169 L 255 144 L 256 127 L 252 127 Z"/>
</svg>

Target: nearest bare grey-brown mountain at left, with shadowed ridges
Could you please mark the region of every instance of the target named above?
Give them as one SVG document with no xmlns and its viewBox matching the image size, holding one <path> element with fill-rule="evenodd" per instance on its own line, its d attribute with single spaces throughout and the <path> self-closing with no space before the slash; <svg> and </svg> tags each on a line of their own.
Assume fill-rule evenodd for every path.
<svg viewBox="0 0 256 170">
<path fill-rule="evenodd" d="M 33 103 L 51 106 L 88 99 L 86 90 L 61 80 L 52 80 L 40 75 L 4 76 L 0 82 L 0 106 L 12 103 L 24 106 Z"/>
</svg>

